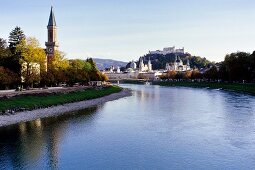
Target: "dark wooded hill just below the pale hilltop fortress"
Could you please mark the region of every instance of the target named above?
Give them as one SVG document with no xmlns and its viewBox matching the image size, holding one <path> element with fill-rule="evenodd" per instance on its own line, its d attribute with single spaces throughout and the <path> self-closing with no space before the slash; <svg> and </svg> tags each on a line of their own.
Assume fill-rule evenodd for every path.
<svg viewBox="0 0 255 170">
<path fill-rule="evenodd" d="M 184 64 L 186 64 L 187 60 L 189 59 L 191 68 L 201 69 L 201 68 L 210 67 L 210 65 L 213 64 L 206 58 L 191 56 L 188 53 L 167 54 L 167 55 L 147 54 L 141 58 L 143 59 L 144 63 L 147 63 L 148 60 L 150 59 L 153 70 L 158 70 L 158 69 L 165 69 L 166 63 L 173 63 L 175 61 L 175 56 L 179 56 Z M 139 65 L 139 62 L 137 62 L 137 64 Z M 129 68 L 130 63 L 128 63 L 126 67 Z"/>
</svg>

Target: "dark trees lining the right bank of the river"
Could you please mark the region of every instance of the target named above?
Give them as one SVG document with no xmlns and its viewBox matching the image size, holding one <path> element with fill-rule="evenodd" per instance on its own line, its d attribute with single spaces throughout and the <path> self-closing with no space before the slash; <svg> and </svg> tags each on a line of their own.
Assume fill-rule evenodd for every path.
<svg viewBox="0 0 255 170">
<path fill-rule="evenodd" d="M 201 60 L 202 58 L 194 58 Z M 205 59 L 202 59 L 207 63 Z M 200 63 L 203 63 L 200 61 Z M 205 65 L 203 65 L 205 66 Z M 210 67 L 209 67 L 210 66 Z M 221 63 L 210 63 L 206 66 L 205 72 L 201 73 L 198 69 L 186 72 L 177 72 L 175 76 L 170 76 L 168 72 L 163 79 L 193 79 L 203 81 L 228 81 L 228 82 L 254 82 L 255 81 L 255 52 L 252 54 L 237 52 L 226 55 Z M 174 78 L 172 78 L 174 77 Z"/>
</svg>

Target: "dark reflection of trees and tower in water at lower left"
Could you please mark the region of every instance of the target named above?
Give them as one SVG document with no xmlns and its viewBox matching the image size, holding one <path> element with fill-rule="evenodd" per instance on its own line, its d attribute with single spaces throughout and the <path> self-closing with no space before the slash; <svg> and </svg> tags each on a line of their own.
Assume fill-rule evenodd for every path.
<svg viewBox="0 0 255 170">
<path fill-rule="evenodd" d="M 58 169 L 59 142 L 70 123 L 92 123 L 103 106 L 67 113 L 58 118 L 38 119 L 0 129 L 0 164 L 4 169 Z M 92 121 L 92 122 L 91 122 Z M 45 161 L 45 162 L 44 162 Z M 40 164 L 39 162 L 44 162 Z M 41 165 L 41 167 L 38 167 Z"/>
</svg>

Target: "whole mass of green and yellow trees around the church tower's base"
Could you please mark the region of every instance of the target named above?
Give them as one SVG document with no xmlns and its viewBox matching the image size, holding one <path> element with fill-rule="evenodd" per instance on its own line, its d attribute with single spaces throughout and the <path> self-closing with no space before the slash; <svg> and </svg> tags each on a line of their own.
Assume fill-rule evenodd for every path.
<svg viewBox="0 0 255 170">
<path fill-rule="evenodd" d="M 21 77 L 28 87 L 38 83 L 41 86 L 55 86 L 108 80 L 91 58 L 68 61 L 64 53 L 56 51 L 49 65 L 46 65 L 45 50 L 38 40 L 25 38 L 21 28 L 16 27 L 9 35 L 9 46 L 6 40 L 0 38 L 0 88 L 17 87 Z"/>
</svg>

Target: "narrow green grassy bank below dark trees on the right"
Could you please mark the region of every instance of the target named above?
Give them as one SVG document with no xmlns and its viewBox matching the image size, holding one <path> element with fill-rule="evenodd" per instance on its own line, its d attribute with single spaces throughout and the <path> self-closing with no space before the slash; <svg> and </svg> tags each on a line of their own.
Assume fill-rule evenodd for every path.
<svg viewBox="0 0 255 170">
<path fill-rule="evenodd" d="M 249 94 L 255 95 L 255 84 L 187 82 L 187 81 L 179 81 L 179 82 L 158 81 L 158 82 L 153 82 L 153 84 L 161 85 L 161 86 L 180 86 L 180 87 L 193 87 L 193 88 L 222 89 L 222 90 L 249 93 Z"/>
</svg>

